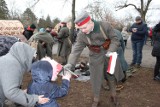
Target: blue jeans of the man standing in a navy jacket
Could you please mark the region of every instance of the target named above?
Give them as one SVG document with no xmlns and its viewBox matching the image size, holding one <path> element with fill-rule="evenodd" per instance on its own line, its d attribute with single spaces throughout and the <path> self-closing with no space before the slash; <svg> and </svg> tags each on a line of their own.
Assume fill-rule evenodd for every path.
<svg viewBox="0 0 160 107">
<path fill-rule="evenodd" d="M 142 62 L 142 49 L 144 45 L 144 40 L 142 41 L 132 41 L 133 50 L 133 64 L 141 64 Z"/>
</svg>

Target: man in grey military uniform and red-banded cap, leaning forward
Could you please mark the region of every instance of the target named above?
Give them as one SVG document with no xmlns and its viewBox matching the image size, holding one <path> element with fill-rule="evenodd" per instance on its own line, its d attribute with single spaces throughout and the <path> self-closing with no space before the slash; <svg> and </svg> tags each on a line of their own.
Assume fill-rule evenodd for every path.
<svg viewBox="0 0 160 107">
<path fill-rule="evenodd" d="M 86 46 L 89 48 L 89 69 L 91 71 L 91 85 L 94 96 L 92 107 L 97 107 L 99 104 L 102 81 L 104 79 L 104 70 L 106 72 L 109 56 L 117 51 L 120 43 L 109 23 L 106 21 L 97 22 L 92 20 L 87 12 L 82 12 L 82 14 L 76 18 L 75 24 L 77 28 L 80 29 L 80 32 L 77 36 L 77 42 L 72 48 L 68 64 L 66 64 L 64 68 L 73 69 L 83 49 Z M 103 35 L 104 32 L 102 32 L 101 28 L 103 28 L 106 35 Z M 108 49 L 102 47 L 107 40 L 104 36 L 111 41 Z M 107 79 L 111 91 L 111 100 L 113 102 L 112 104 L 116 107 L 119 105 L 115 89 L 116 80 L 119 81 L 123 77 L 124 74 L 119 74 L 117 68 L 113 75 L 107 73 Z"/>
</svg>

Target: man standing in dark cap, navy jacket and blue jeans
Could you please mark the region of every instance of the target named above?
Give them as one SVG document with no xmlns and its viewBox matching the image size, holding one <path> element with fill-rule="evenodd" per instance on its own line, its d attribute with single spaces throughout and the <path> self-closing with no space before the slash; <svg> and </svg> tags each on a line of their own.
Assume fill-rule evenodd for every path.
<svg viewBox="0 0 160 107">
<path fill-rule="evenodd" d="M 129 29 L 129 31 L 132 32 L 131 42 L 133 50 L 131 66 L 136 65 L 136 67 L 139 68 L 142 61 L 142 49 L 147 32 L 147 25 L 142 21 L 140 16 L 137 16 L 135 21 Z"/>
</svg>

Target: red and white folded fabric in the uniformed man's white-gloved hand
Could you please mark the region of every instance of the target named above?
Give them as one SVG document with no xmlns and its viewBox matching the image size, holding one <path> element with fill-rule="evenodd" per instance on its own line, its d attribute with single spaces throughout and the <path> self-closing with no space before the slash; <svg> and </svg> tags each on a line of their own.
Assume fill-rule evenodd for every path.
<svg viewBox="0 0 160 107">
<path fill-rule="evenodd" d="M 115 72 L 115 67 L 116 67 L 116 61 L 117 61 L 117 52 L 113 52 L 110 54 L 110 57 L 109 57 L 109 62 L 108 62 L 108 68 L 107 68 L 107 73 L 109 74 L 114 74 Z"/>
</svg>

